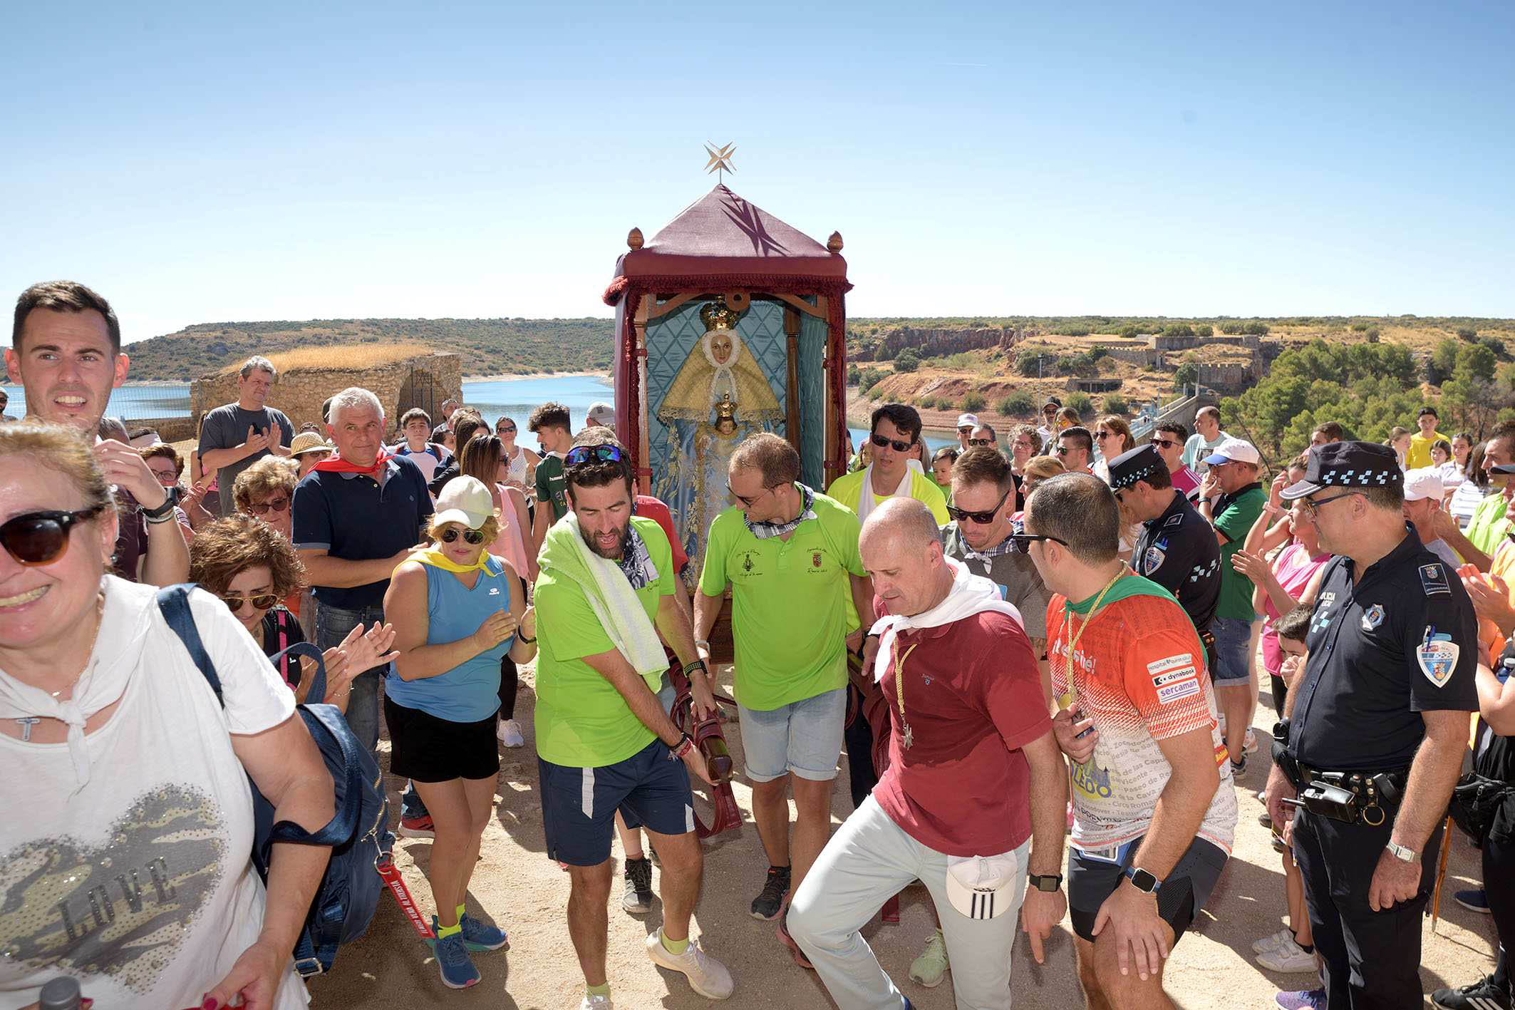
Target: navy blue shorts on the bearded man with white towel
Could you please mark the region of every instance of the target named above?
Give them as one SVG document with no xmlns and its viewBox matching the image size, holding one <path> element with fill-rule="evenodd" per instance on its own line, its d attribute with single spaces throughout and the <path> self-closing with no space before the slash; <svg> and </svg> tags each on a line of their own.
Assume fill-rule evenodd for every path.
<svg viewBox="0 0 1515 1010">
<path fill-rule="evenodd" d="M 694 830 L 689 772 L 662 740 L 600 768 L 570 768 L 538 757 L 536 771 L 548 859 L 570 866 L 598 866 L 611 859 L 617 810 L 626 827 L 645 825 L 659 834 Z"/>
</svg>

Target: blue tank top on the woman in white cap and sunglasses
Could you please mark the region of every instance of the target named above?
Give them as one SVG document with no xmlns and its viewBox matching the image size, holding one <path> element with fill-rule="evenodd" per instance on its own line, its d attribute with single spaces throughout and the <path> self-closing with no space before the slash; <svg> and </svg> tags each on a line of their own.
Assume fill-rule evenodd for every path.
<svg viewBox="0 0 1515 1010">
<path fill-rule="evenodd" d="M 430 624 L 427 645 L 445 645 L 468 637 L 495 610 L 511 609 L 511 580 L 498 557 L 485 562 L 488 571 L 470 589 L 450 571 L 435 565 L 426 569 L 426 610 Z M 491 650 L 464 660 L 445 674 L 421 680 L 386 677 L 385 695 L 397 706 L 420 709 L 448 722 L 479 722 L 500 709 L 500 657 L 515 637 L 508 637 Z"/>
</svg>

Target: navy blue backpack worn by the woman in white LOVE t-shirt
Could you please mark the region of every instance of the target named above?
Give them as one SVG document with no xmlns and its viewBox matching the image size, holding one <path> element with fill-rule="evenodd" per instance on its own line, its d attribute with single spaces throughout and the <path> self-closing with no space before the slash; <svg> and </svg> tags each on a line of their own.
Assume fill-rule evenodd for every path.
<svg viewBox="0 0 1515 1010">
<path fill-rule="evenodd" d="M 205 651 L 194 615 L 189 612 L 191 588 L 159 589 L 158 607 L 224 707 L 221 678 Z M 315 659 L 317 672 L 311 683 L 311 695 L 324 697 L 326 666 L 321 662 L 321 651 L 309 642 L 298 642 L 280 653 L 283 654 Z M 279 656 L 274 656 L 276 665 L 277 660 Z M 258 792 L 258 784 L 251 778 L 247 784 L 253 790 L 253 866 L 265 884 L 274 842 L 326 845 L 332 849 L 332 860 L 326 866 L 320 887 L 315 889 L 311 912 L 294 945 L 294 969 L 301 978 L 309 978 L 332 969 L 339 943 L 356 940 L 368 930 L 385 887 L 377 868 L 382 860 L 389 859 L 394 834 L 389 831 L 389 803 L 383 793 L 383 774 L 368 748 L 353 736 L 341 710 L 329 704 L 303 704 L 297 706 L 295 712 L 305 719 L 311 739 L 315 740 L 326 760 L 326 769 L 332 774 L 336 787 L 336 815 L 315 833 L 291 821 L 274 824 L 274 806 Z"/>
</svg>

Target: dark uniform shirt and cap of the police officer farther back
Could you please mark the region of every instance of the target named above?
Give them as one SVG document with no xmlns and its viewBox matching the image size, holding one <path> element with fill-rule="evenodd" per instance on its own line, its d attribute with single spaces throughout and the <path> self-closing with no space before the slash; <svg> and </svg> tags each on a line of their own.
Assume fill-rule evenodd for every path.
<svg viewBox="0 0 1515 1010">
<path fill-rule="evenodd" d="M 1167 474 L 1168 466 L 1151 445 L 1121 453 L 1110 462 L 1110 488 L 1121 491 L 1138 480 L 1150 482 Z M 1142 524 L 1132 550 L 1132 568 L 1174 597 L 1194 630 L 1204 642 L 1209 668 L 1215 669 L 1215 636 L 1210 622 L 1221 598 L 1221 545 L 1215 528 L 1204 521 L 1183 492 L 1173 489 L 1173 501 L 1156 519 Z"/>
</svg>

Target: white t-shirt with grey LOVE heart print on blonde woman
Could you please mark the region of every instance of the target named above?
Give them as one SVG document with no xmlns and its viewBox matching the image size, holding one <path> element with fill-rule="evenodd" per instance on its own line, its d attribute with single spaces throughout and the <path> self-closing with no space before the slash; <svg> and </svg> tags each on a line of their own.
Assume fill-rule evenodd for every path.
<svg viewBox="0 0 1515 1010">
<path fill-rule="evenodd" d="M 105 578 L 91 659 L 127 665 L 127 681 L 85 737 L 83 789 L 67 743 L 0 736 L 0 1010 L 35 1002 L 58 975 L 98 1007 L 197 1007 L 262 928 L 251 792 L 229 733 L 282 724 L 294 695 L 226 606 L 197 589 L 189 606 L 223 710 L 155 595 Z M 291 963 L 274 1010 L 308 1002 Z"/>
</svg>

